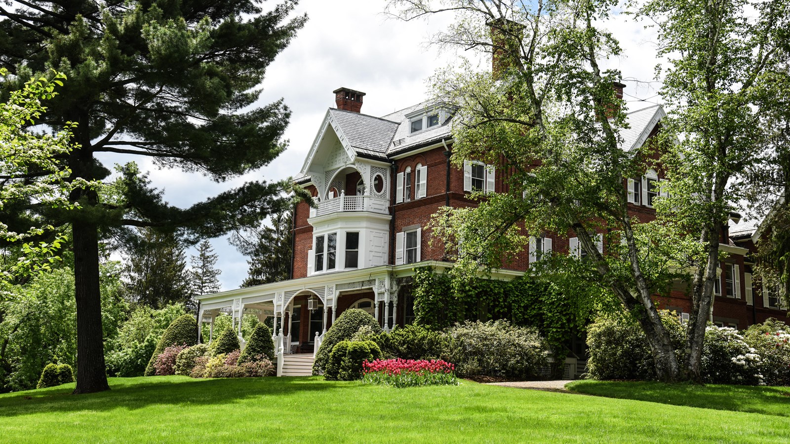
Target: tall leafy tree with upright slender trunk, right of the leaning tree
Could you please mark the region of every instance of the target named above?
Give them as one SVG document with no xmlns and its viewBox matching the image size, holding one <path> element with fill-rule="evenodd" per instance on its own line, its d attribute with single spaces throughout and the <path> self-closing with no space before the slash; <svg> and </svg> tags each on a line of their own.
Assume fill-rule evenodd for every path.
<svg viewBox="0 0 790 444">
<path fill-rule="evenodd" d="M 662 160 L 672 181 L 660 215 L 692 245 L 686 370 L 701 380 L 723 228 L 748 171 L 781 167 L 775 142 L 784 128 L 773 122 L 786 124 L 788 116 L 790 2 L 652 0 L 639 13 L 655 24 L 660 55 L 669 59 L 660 71 L 661 95 L 672 109 Z"/>
</svg>

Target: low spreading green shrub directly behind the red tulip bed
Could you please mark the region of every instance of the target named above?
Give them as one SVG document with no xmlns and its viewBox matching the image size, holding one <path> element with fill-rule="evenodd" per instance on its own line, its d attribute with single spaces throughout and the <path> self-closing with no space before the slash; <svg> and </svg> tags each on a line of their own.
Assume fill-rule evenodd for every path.
<svg viewBox="0 0 790 444">
<path fill-rule="evenodd" d="M 396 327 L 390 333 L 371 330 L 364 325 L 352 340 L 374 341 L 386 358 L 440 359 L 446 357 L 450 349 L 446 333 L 434 332 L 421 325 Z"/>
</svg>

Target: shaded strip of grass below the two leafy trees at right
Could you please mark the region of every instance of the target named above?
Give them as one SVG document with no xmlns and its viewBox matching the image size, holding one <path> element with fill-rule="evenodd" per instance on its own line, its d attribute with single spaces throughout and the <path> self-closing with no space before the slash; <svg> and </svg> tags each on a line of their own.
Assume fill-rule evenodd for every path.
<svg viewBox="0 0 790 444">
<path fill-rule="evenodd" d="M 576 381 L 567 388 L 600 397 L 790 417 L 790 387 Z"/>
</svg>

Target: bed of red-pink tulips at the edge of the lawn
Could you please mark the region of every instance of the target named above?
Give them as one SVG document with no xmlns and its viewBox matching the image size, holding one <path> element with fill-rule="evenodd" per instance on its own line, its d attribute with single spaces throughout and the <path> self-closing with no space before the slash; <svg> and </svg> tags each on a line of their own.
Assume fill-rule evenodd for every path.
<svg viewBox="0 0 790 444">
<path fill-rule="evenodd" d="M 363 382 L 395 387 L 457 386 L 455 366 L 442 359 L 376 359 L 363 363 Z"/>
</svg>

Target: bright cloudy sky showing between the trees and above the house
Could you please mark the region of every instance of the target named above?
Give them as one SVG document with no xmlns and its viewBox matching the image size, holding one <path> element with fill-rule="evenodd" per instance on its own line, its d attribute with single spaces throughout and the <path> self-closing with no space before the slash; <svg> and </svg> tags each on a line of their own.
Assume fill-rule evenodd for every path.
<svg viewBox="0 0 790 444">
<path fill-rule="evenodd" d="M 362 112 L 386 115 L 422 102 L 427 78 L 434 70 L 453 63 L 455 54 L 439 53 L 426 43 L 445 27 L 446 17 L 431 21 L 396 21 L 382 14 L 383 0 L 301 0 L 297 13 L 307 13 L 307 25 L 291 45 L 269 66 L 261 103 L 283 97 L 292 110 L 285 133 L 289 148 L 268 167 L 232 182 L 217 184 L 200 175 L 160 170 L 135 159 L 150 171 L 155 186 L 164 189 L 171 204 L 187 206 L 238 186 L 245 180 L 279 180 L 296 175 L 302 167 L 318 126 L 328 107 L 334 107 L 332 91 L 340 86 L 366 92 Z M 608 61 L 625 77 L 626 100 L 656 102 L 652 81 L 656 66 L 653 32 L 625 15 L 607 24 L 619 38 L 623 57 Z M 108 164 L 120 159 L 107 158 Z M 246 258 L 226 238 L 212 239 L 219 254 L 223 290 L 238 288 L 246 277 Z M 194 254 L 194 250 L 190 250 Z"/>
</svg>

